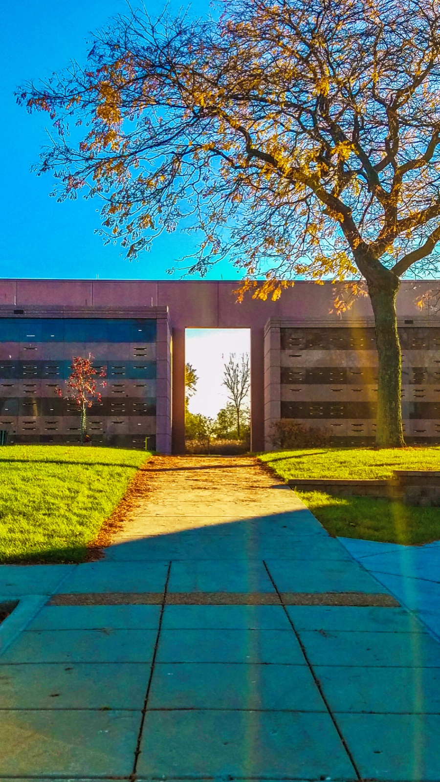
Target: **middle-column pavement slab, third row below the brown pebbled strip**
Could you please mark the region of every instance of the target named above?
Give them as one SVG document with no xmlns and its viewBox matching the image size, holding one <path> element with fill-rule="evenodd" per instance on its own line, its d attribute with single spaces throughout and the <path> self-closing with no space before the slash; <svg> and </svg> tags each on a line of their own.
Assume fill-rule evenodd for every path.
<svg viewBox="0 0 440 782">
<path fill-rule="evenodd" d="M 307 665 L 158 663 L 148 706 L 326 712 Z"/>
</svg>

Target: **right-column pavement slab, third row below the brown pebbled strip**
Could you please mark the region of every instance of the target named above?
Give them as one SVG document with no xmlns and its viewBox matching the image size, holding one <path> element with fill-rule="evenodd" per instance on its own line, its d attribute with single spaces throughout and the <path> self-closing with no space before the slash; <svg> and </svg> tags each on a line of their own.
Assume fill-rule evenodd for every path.
<svg viewBox="0 0 440 782">
<path fill-rule="evenodd" d="M 440 669 L 314 667 L 332 712 L 440 714 Z"/>
</svg>

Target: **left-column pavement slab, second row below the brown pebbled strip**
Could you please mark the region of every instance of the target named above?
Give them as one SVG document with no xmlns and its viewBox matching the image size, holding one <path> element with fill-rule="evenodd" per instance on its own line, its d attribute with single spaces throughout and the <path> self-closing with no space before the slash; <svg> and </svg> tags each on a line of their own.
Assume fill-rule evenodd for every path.
<svg viewBox="0 0 440 782">
<path fill-rule="evenodd" d="M 0 657 L 5 662 L 150 662 L 156 630 L 31 630 Z"/>
</svg>

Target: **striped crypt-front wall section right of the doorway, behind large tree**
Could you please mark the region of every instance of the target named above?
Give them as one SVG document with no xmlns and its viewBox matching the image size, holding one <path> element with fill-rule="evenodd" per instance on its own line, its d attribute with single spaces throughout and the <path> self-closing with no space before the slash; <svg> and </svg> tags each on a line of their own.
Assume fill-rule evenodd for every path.
<svg viewBox="0 0 440 782">
<path fill-rule="evenodd" d="M 440 442 L 440 323 L 399 318 L 406 443 Z M 265 332 L 265 433 L 273 421 L 318 427 L 341 446 L 376 439 L 377 351 L 373 321 L 341 325 L 271 319 Z"/>
</svg>

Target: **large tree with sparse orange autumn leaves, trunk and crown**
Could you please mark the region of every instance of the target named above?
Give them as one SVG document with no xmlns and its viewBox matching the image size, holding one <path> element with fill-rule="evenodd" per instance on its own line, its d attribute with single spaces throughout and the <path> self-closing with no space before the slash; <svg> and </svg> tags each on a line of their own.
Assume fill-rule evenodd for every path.
<svg viewBox="0 0 440 782">
<path fill-rule="evenodd" d="M 403 443 L 399 281 L 432 271 L 440 239 L 439 14 L 436 0 L 135 12 L 85 68 L 19 95 L 56 125 L 40 170 L 61 198 L 100 195 L 128 256 L 182 224 L 200 235 L 190 271 L 228 255 L 254 296 L 298 276 L 365 284 L 379 445 Z"/>
</svg>

